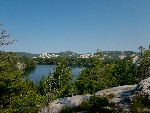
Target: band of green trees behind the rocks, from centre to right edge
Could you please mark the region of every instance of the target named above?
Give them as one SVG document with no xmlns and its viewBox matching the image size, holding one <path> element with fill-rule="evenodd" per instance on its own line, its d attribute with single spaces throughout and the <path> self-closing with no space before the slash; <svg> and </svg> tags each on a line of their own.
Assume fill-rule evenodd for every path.
<svg viewBox="0 0 150 113">
<path fill-rule="evenodd" d="M 131 56 L 111 61 L 108 58 L 103 59 L 102 53 L 98 52 L 97 56 L 92 58 L 90 66 L 83 69 L 75 81 L 71 68 L 68 67 L 69 61 L 63 58 L 55 67 L 54 73 L 39 82 L 39 93 L 47 91 L 47 84 L 50 84 L 51 96 L 57 95 L 57 98 L 72 94 L 92 94 L 119 85 L 137 84 L 149 76 L 149 56 L 150 51 L 145 50 L 145 53 L 137 59 L 138 64 L 135 64 Z M 42 94 L 47 93 L 49 92 Z"/>
</svg>

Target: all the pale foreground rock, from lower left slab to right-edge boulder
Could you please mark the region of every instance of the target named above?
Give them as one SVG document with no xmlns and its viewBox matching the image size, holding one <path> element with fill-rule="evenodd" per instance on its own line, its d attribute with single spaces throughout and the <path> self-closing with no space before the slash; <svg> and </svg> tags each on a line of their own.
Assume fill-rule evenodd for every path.
<svg viewBox="0 0 150 113">
<path fill-rule="evenodd" d="M 130 111 L 132 99 L 136 95 L 141 93 L 147 94 L 147 98 L 150 99 L 150 77 L 142 80 L 138 85 L 124 85 L 113 87 L 98 91 L 97 93 L 95 93 L 95 95 L 101 97 L 113 95 L 113 98 L 110 98 L 110 102 L 116 103 L 114 113 L 119 113 L 120 109 L 122 110 L 121 112 L 128 113 Z M 41 109 L 39 113 L 59 113 L 62 107 L 78 106 L 83 100 L 89 99 L 90 96 L 90 94 L 87 94 L 60 98 Z"/>
</svg>

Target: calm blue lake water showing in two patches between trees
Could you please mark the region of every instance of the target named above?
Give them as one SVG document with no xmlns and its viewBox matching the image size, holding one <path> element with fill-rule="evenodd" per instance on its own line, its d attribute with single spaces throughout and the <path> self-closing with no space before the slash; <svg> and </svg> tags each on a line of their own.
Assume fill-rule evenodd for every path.
<svg viewBox="0 0 150 113">
<path fill-rule="evenodd" d="M 30 70 L 29 76 L 35 82 L 39 82 L 43 76 L 47 76 L 50 72 L 53 72 L 53 69 L 54 65 L 37 65 L 36 68 Z M 73 68 L 72 74 L 77 77 L 81 70 L 82 68 Z"/>
</svg>

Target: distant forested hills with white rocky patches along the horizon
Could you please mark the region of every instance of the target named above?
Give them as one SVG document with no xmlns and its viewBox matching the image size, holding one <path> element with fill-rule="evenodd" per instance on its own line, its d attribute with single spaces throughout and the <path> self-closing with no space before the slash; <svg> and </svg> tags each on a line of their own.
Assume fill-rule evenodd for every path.
<svg viewBox="0 0 150 113">
<path fill-rule="evenodd" d="M 41 58 L 51 58 L 51 57 L 90 58 L 96 54 L 96 53 L 94 53 L 94 54 L 91 54 L 91 53 L 78 54 L 78 53 L 74 53 L 71 51 L 60 52 L 60 53 L 44 53 L 44 54 L 32 54 L 32 53 L 26 53 L 26 52 L 14 52 L 14 53 L 23 55 L 23 56 L 27 56 L 28 58 L 38 58 L 38 57 L 41 57 Z M 112 58 L 112 59 L 118 58 L 119 56 L 123 57 L 123 56 L 127 56 L 127 55 L 136 55 L 137 54 L 134 51 L 102 51 L 102 53 L 105 57 Z"/>
</svg>

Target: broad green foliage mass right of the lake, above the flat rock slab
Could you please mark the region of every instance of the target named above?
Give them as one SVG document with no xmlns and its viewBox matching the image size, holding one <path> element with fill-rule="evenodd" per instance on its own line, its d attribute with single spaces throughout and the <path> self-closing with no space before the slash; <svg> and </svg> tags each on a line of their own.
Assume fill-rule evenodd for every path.
<svg viewBox="0 0 150 113">
<path fill-rule="evenodd" d="M 101 52 L 98 52 L 93 58 L 92 65 L 79 74 L 75 81 L 79 94 L 92 94 L 109 87 L 139 82 L 138 70 L 132 57 L 110 62 L 101 56 L 103 56 Z"/>
</svg>

